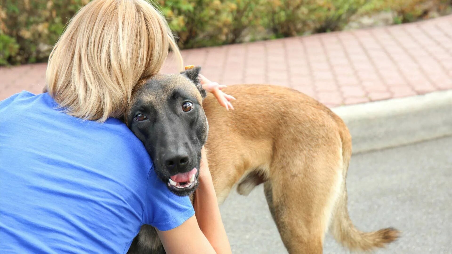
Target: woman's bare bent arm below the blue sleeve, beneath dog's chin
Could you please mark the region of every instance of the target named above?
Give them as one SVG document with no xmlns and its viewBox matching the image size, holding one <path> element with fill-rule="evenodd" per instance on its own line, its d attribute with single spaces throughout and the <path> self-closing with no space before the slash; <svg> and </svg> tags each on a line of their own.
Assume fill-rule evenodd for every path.
<svg viewBox="0 0 452 254">
<path fill-rule="evenodd" d="M 202 147 L 201 153 L 199 186 L 195 191 L 193 205 L 195 216 L 172 230 L 157 230 L 165 251 L 169 254 L 231 253 L 231 246 L 221 221 L 204 147 Z"/>
</svg>

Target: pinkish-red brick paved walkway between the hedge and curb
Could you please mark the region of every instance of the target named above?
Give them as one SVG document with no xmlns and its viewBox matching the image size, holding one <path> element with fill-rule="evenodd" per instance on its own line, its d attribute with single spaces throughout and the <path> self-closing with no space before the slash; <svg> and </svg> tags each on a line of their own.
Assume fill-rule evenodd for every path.
<svg viewBox="0 0 452 254">
<path fill-rule="evenodd" d="M 267 83 L 334 107 L 452 89 L 452 15 L 384 28 L 184 50 L 225 85 Z M 174 72 L 170 60 L 164 72 Z M 39 93 L 46 64 L 0 68 L 0 99 Z"/>
</svg>

